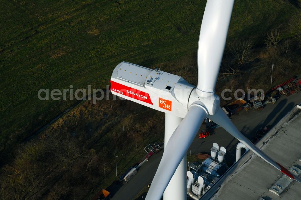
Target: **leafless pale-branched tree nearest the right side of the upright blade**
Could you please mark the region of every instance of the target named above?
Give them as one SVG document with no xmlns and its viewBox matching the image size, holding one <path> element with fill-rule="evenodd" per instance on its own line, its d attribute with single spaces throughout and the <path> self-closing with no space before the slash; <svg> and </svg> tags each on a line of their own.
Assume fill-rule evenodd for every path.
<svg viewBox="0 0 301 200">
<path fill-rule="evenodd" d="M 250 60 L 253 46 L 254 44 L 250 40 L 236 41 L 230 45 L 230 50 L 237 62 L 243 65 Z"/>
</svg>

